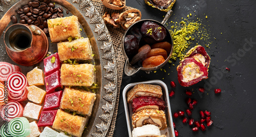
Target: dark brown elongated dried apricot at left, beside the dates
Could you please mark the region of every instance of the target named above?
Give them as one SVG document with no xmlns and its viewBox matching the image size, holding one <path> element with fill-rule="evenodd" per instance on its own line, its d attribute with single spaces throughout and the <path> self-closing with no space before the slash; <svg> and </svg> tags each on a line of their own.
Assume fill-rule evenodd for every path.
<svg viewBox="0 0 256 137">
<path fill-rule="evenodd" d="M 143 46 L 139 49 L 139 53 L 137 53 L 137 54 L 133 57 L 133 59 L 132 59 L 132 61 L 130 62 L 130 64 L 132 64 L 132 65 L 135 64 L 135 63 L 138 62 L 142 57 L 146 56 L 147 53 L 150 52 L 150 51 L 151 51 L 150 45 L 148 45 L 148 44 L 143 45 Z"/>
</svg>

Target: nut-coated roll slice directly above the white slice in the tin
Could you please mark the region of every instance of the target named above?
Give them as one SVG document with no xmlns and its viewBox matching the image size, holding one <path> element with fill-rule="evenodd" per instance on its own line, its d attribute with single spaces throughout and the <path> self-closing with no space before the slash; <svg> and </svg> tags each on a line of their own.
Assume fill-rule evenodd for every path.
<svg viewBox="0 0 256 137">
<path fill-rule="evenodd" d="M 165 113 L 163 110 L 144 108 L 133 113 L 133 127 L 141 127 L 147 124 L 153 124 L 164 130 L 167 127 Z"/>
</svg>

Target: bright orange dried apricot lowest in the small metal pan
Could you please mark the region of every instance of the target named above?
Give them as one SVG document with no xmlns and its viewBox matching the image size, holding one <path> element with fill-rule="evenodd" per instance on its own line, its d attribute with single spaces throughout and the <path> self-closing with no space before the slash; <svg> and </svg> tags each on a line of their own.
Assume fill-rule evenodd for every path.
<svg viewBox="0 0 256 137">
<path fill-rule="evenodd" d="M 165 59 L 161 55 L 152 56 L 152 57 L 146 58 L 142 62 L 142 66 L 143 67 L 155 67 L 155 66 L 162 64 L 164 61 L 165 61 Z"/>
</svg>

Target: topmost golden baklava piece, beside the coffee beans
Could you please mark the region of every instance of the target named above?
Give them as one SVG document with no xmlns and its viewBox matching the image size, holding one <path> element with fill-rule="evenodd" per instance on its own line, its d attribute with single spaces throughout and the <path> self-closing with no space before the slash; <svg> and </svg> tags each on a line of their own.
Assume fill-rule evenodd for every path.
<svg viewBox="0 0 256 137">
<path fill-rule="evenodd" d="M 77 16 L 48 19 L 48 29 L 52 42 L 65 41 L 69 37 L 81 37 Z"/>
</svg>

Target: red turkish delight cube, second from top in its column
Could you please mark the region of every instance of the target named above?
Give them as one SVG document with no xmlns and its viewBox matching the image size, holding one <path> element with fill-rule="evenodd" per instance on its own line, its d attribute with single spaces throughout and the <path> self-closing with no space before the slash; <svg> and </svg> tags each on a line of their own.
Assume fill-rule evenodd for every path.
<svg viewBox="0 0 256 137">
<path fill-rule="evenodd" d="M 46 94 L 54 92 L 54 90 L 58 87 L 61 87 L 60 85 L 60 72 L 56 71 L 52 73 L 49 76 L 45 77 L 46 82 Z"/>
</svg>

